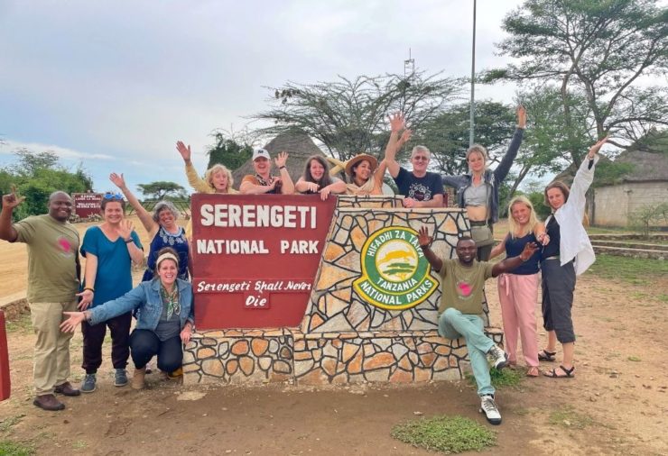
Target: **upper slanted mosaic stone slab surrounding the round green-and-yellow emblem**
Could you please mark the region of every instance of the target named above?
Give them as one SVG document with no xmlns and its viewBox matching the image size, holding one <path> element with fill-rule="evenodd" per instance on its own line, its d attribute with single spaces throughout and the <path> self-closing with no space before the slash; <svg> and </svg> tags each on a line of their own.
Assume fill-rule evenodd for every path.
<svg viewBox="0 0 668 456">
<path fill-rule="evenodd" d="M 460 209 L 366 209 L 338 208 L 322 255 L 320 274 L 302 322 L 302 333 L 435 330 L 440 289 L 418 306 L 388 311 L 370 306 L 353 290 L 362 274 L 360 252 L 371 233 L 388 226 L 418 231 L 427 226 L 434 240 L 431 249 L 441 258 L 453 258 L 459 233 L 469 231 Z M 435 229 L 434 229 L 435 228 Z M 432 278 L 438 278 L 436 273 Z M 486 321 L 487 303 L 485 303 Z"/>
</svg>

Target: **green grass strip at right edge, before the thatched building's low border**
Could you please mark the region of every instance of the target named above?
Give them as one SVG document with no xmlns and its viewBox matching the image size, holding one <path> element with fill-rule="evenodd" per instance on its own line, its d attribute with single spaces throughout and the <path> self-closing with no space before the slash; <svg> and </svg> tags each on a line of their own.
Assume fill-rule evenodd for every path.
<svg viewBox="0 0 668 456">
<path fill-rule="evenodd" d="M 596 256 L 596 262 L 591 265 L 587 274 L 623 280 L 634 285 L 646 285 L 654 278 L 662 278 L 668 274 L 668 261 L 600 254 Z"/>
</svg>

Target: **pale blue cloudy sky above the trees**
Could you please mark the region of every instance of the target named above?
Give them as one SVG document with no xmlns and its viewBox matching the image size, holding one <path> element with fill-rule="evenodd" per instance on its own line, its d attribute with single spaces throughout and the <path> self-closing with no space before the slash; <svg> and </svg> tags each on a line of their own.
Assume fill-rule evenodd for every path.
<svg viewBox="0 0 668 456">
<path fill-rule="evenodd" d="M 478 0 L 477 68 L 504 63 L 494 42 L 520 3 Z M 0 166 L 53 150 L 98 191 L 112 171 L 187 187 L 175 142 L 203 172 L 210 132 L 243 129 L 265 87 L 401 73 L 409 48 L 420 69 L 469 75 L 471 15 L 456 0 L 0 0 Z M 492 95 L 513 87 L 477 97 Z"/>
</svg>

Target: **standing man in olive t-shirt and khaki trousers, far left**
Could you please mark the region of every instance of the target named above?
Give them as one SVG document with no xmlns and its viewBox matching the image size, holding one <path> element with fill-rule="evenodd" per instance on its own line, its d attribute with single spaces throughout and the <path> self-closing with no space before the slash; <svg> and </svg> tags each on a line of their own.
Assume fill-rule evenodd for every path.
<svg viewBox="0 0 668 456">
<path fill-rule="evenodd" d="M 72 199 L 65 192 L 49 196 L 49 214 L 27 217 L 12 224 L 14 207 L 23 202 L 16 190 L 3 196 L 0 239 L 28 245 L 28 304 L 35 341 L 32 377 L 36 397 L 44 410 L 62 410 L 54 393 L 79 396 L 70 377 L 71 333 L 62 333 L 63 312 L 77 310 L 79 291 L 79 232 L 68 223 Z"/>
</svg>

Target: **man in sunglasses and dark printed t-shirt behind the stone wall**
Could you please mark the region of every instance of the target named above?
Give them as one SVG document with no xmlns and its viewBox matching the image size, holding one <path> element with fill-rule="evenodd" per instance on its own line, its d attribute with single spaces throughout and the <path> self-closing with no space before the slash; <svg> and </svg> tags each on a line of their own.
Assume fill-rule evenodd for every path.
<svg viewBox="0 0 668 456">
<path fill-rule="evenodd" d="M 390 127 L 392 134 L 404 130 L 402 138 L 410 139 L 411 131 L 405 129 L 404 116 L 394 114 L 390 116 Z M 413 170 L 409 171 L 399 165 L 396 161 L 395 150 L 385 151 L 385 163 L 394 178 L 399 193 L 404 195 L 404 207 L 442 207 L 443 205 L 443 183 L 441 176 L 437 173 L 427 171 L 431 152 L 425 146 L 415 146 L 411 152 L 411 164 Z"/>
</svg>

